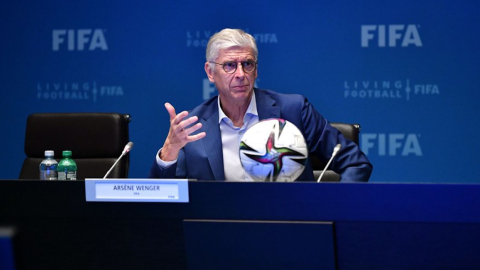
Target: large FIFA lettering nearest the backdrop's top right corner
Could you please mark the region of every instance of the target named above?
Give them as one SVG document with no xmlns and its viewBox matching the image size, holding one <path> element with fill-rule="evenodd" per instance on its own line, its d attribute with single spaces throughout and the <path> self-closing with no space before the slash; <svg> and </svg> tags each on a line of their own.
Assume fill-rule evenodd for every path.
<svg viewBox="0 0 480 270">
<path fill-rule="evenodd" d="M 369 47 L 376 40 L 378 47 L 422 47 L 418 28 L 414 24 L 362 25 L 362 47 Z"/>
</svg>

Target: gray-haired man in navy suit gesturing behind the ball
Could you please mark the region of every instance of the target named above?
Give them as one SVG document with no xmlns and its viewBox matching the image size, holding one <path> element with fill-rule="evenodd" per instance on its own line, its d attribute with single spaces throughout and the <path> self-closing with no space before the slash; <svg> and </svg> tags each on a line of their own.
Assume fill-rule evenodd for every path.
<svg viewBox="0 0 480 270">
<path fill-rule="evenodd" d="M 306 98 L 254 88 L 258 50 L 251 35 L 224 29 L 210 38 L 206 56 L 205 72 L 219 95 L 191 112 L 176 114 L 171 104 L 165 104 L 170 130 L 150 177 L 252 181 L 240 163 L 241 137 L 260 120 L 282 118 L 300 129 L 309 152 L 321 160 L 327 161 L 335 145 L 342 145 L 331 163 L 341 181 L 368 181 L 372 165 L 367 157 Z M 309 162 L 297 180 L 315 180 Z"/>
</svg>

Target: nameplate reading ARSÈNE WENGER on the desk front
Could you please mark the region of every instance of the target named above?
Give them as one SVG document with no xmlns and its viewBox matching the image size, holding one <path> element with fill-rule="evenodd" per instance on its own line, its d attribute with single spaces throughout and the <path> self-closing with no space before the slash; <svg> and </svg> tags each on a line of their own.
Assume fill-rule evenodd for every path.
<svg viewBox="0 0 480 270">
<path fill-rule="evenodd" d="M 87 202 L 187 203 L 187 179 L 85 179 Z"/>
</svg>

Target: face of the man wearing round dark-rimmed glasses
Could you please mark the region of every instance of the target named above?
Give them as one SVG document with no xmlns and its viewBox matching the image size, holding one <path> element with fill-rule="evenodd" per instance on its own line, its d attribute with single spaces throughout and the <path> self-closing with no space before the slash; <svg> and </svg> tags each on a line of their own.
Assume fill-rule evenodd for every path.
<svg viewBox="0 0 480 270">
<path fill-rule="evenodd" d="M 250 100 L 257 78 L 257 69 L 255 68 L 249 73 L 243 71 L 242 65 L 239 63 L 247 60 L 255 61 L 251 48 L 231 47 L 220 50 L 215 62 L 219 64 L 227 61 L 236 62 L 237 70 L 235 72 L 228 74 L 221 65 L 215 65 L 215 69 L 212 70 L 209 63 L 205 63 L 208 79 L 217 87 L 222 103 L 235 104 Z"/>
</svg>

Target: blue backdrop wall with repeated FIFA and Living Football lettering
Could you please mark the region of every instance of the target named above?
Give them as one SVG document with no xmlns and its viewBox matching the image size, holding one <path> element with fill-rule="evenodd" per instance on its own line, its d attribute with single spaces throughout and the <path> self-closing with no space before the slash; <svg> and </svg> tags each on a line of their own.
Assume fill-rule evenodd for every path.
<svg viewBox="0 0 480 270">
<path fill-rule="evenodd" d="M 77 1 L 78 2 L 78 1 Z M 130 177 L 168 132 L 163 104 L 216 90 L 203 70 L 226 27 L 259 48 L 257 86 L 360 123 L 374 182 L 480 182 L 476 1 L 9 1 L 1 17 L 0 178 L 17 178 L 36 112 L 132 115 Z M 59 127 L 58 132 L 62 128 Z"/>
</svg>

